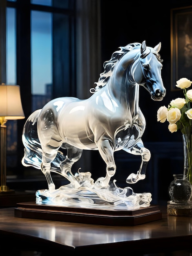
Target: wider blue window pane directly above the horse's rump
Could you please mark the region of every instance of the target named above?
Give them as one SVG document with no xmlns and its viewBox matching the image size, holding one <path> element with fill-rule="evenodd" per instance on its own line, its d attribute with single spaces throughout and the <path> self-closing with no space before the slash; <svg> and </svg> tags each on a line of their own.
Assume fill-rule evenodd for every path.
<svg viewBox="0 0 192 256">
<path fill-rule="evenodd" d="M 52 13 L 31 11 L 32 112 L 52 98 Z"/>
</svg>

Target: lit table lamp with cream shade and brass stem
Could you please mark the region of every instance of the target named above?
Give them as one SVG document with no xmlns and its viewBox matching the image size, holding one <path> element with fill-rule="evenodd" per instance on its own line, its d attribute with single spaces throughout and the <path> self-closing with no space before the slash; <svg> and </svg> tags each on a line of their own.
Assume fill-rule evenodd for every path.
<svg viewBox="0 0 192 256">
<path fill-rule="evenodd" d="M 7 120 L 24 119 L 25 115 L 22 109 L 20 86 L 19 85 L 0 85 L 0 192 L 13 192 L 6 185 L 6 153 L 7 153 Z"/>
</svg>

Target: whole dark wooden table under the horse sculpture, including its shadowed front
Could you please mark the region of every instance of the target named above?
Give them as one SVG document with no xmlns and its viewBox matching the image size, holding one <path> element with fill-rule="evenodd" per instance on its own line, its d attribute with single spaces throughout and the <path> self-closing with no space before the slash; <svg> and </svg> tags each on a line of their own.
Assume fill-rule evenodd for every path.
<svg viewBox="0 0 192 256">
<path fill-rule="evenodd" d="M 0 255 L 17 256 L 22 250 L 41 255 L 144 255 L 192 253 L 192 217 L 167 216 L 136 226 L 105 226 L 18 218 L 14 208 L 0 209 Z M 134 253 L 133 253 L 134 252 Z"/>
</svg>

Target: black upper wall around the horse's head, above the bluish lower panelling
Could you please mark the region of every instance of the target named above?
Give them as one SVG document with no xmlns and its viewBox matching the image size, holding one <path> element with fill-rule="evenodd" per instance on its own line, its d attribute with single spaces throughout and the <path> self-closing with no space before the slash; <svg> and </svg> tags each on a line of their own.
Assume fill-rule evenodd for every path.
<svg viewBox="0 0 192 256">
<path fill-rule="evenodd" d="M 110 59 L 118 47 L 143 40 L 150 47 L 161 42 L 159 54 L 163 59 L 162 78 L 167 90 L 163 101 L 150 98 L 149 93 L 141 87 L 140 108 L 146 119 L 143 141 L 181 141 L 180 131 L 170 133 L 168 122 L 157 122 L 156 113 L 160 106 L 167 106 L 172 99 L 183 97 L 182 91 L 171 92 L 171 49 L 170 49 L 170 10 L 192 4 L 191 1 L 170 1 L 154 4 L 154 1 L 102 0 L 102 61 Z M 175 81 L 176 83 L 176 81 Z"/>
</svg>

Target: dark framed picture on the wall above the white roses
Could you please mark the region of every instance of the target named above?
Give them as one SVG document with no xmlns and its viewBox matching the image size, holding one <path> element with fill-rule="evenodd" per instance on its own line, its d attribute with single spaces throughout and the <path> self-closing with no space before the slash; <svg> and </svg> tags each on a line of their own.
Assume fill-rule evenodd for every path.
<svg viewBox="0 0 192 256">
<path fill-rule="evenodd" d="M 171 9 L 171 91 L 183 77 L 192 81 L 192 6 Z"/>
</svg>

